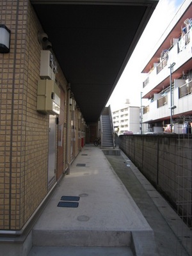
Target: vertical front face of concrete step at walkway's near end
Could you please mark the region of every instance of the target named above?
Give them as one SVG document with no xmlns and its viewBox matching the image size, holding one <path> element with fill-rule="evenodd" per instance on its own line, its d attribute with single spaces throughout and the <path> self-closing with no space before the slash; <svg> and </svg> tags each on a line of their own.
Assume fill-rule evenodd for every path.
<svg viewBox="0 0 192 256">
<path fill-rule="evenodd" d="M 131 232 L 125 230 L 33 230 L 35 246 L 127 247 Z"/>
</svg>

